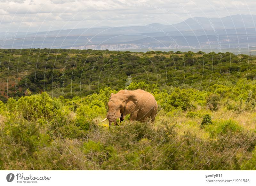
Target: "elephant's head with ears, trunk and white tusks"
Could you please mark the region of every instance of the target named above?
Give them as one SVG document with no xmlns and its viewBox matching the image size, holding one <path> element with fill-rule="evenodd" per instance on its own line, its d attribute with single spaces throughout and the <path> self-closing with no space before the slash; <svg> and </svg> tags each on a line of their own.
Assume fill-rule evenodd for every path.
<svg viewBox="0 0 256 186">
<path fill-rule="evenodd" d="M 108 119 L 109 126 L 112 123 L 116 125 L 118 118 L 120 122 L 124 120 L 124 111 L 125 113 L 132 113 L 135 111 L 136 105 L 137 96 L 128 90 L 120 90 L 117 94 L 111 93 L 108 101 L 107 117 L 101 122 Z"/>
</svg>

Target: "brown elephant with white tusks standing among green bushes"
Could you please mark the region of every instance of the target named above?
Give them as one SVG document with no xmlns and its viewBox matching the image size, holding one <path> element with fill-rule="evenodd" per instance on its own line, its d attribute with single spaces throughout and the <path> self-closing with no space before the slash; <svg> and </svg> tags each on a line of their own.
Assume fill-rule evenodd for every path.
<svg viewBox="0 0 256 186">
<path fill-rule="evenodd" d="M 117 124 L 124 120 L 127 114 L 130 115 L 130 121 L 145 121 L 150 118 L 154 123 L 157 113 L 157 103 L 155 97 L 141 89 L 120 90 L 118 93 L 111 93 L 108 101 L 107 117 L 100 121 L 108 119 L 109 126 L 112 123 Z"/>
</svg>

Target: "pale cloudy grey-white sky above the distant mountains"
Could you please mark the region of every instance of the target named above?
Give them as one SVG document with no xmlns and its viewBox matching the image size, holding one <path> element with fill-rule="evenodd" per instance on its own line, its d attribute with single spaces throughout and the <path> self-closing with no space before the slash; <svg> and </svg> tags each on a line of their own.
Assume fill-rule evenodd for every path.
<svg viewBox="0 0 256 186">
<path fill-rule="evenodd" d="M 255 0 L 0 0 L 0 32 L 175 24 L 256 14 Z"/>
</svg>

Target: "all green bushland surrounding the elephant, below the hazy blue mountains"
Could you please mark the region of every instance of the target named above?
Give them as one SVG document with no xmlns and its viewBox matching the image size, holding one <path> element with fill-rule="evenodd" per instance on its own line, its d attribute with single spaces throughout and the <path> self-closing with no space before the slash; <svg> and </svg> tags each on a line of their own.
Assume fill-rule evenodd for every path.
<svg viewBox="0 0 256 186">
<path fill-rule="evenodd" d="M 2 170 L 256 169 L 254 58 L 61 49 L 1 55 Z M 154 124 L 99 122 L 111 92 L 125 87 L 155 96 Z"/>
</svg>

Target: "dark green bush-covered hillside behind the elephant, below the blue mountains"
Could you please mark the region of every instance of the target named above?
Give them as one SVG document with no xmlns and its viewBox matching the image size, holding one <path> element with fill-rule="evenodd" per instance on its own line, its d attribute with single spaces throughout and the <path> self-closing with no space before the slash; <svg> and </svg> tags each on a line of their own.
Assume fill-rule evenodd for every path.
<svg viewBox="0 0 256 186">
<path fill-rule="evenodd" d="M 71 98 L 86 96 L 105 87 L 124 89 L 129 82 L 140 81 L 156 84 L 160 89 L 206 90 L 214 84 L 234 85 L 239 80 L 254 80 L 255 59 L 228 52 L 202 55 L 161 51 L 8 49 L 2 52 L 0 93 L 3 101 L 7 95 L 24 96 L 26 89 Z"/>
</svg>

